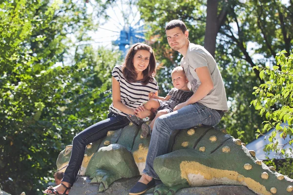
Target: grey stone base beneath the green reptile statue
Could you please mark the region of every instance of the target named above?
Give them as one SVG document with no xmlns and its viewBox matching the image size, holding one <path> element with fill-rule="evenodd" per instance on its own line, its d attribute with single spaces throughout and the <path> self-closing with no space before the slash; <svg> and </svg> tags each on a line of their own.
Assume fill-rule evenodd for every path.
<svg viewBox="0 0 293 195">
<path fill-rule="evenodd" d="M 140 176 L 130 179 L 119 179 L 115 181 L 108 190 L 98 193 L 98 184 L 90 184 L 88 177 L 78 177 L 69 195 L 128 195 L 129 190 L 139 180 Z M 153 195 L 154 188 L 148 190 L 144 195 Z M 255 195 L 246 186 L 209 186 L 184 188 L 176 195 Z"/>
</svg>

